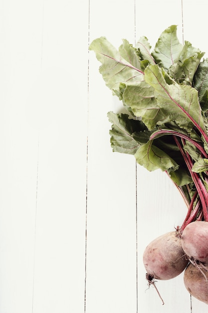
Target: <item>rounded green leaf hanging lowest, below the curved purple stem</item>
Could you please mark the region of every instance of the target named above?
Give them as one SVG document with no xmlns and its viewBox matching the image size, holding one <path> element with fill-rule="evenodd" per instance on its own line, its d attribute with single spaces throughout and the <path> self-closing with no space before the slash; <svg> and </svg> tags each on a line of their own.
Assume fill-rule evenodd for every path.
<svg viewBox="0 0 208 313">
<path fill-rule="evenodd" d="M 135 153 L 136 161 L 149 171 L 176 170 L 179 165 L 163 150 L 153 144 L 153 140 L 141 145 Z"/>
</svg>

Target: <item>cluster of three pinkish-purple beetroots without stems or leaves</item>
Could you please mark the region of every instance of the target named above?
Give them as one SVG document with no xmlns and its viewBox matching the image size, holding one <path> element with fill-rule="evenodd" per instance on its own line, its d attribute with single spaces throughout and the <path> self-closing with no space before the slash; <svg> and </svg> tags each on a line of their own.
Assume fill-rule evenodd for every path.
<svg viewBox="0 0 208 313">
<path fill-rule="evenodd" d="M 155 287 L 155 279 L 171 279 L 185 270 L 187 290 L 208 304 L 208 222 L 193 221 L 183 233 L 177 229 L 154 239 L 144 251 L 143 262 L 146 279 Z"/>
</svg>

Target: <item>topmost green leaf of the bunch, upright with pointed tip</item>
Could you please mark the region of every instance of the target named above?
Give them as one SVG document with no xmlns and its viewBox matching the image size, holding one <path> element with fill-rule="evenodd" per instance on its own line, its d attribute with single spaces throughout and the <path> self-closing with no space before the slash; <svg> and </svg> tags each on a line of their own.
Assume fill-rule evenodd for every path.
<svg viewBox="0 0 208 313">
<path fill-rule="evenodd" d="M 165 29 L 159 37 L 152 55 L 157 64 L 165 69 L 179 60 L 183 45 L 177 37 L 177 25 Z"/>
</svg>

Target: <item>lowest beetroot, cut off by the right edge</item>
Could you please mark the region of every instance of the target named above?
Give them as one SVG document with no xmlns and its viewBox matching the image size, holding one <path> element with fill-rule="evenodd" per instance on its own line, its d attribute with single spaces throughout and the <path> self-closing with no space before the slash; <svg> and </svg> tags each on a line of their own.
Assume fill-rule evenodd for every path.
<svg viewBox="0 0 208 313">
<path fill-rule="evenodd" d="M 208 304 L 208 271 L 189 263 L 184 272 L 184 284 L 190 294 Z"/>
</svg>

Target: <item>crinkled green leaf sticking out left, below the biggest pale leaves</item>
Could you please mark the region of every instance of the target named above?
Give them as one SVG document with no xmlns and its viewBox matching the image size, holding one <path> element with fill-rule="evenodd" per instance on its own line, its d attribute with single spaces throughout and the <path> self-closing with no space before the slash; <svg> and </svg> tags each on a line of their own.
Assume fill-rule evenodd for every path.
<svg viewBox="0 0 208 313">
<path fill-rule="evenodd" d="M 138 126 L 144 129 L 143 124 L 140 121 L 129 119 L 128 114 L 118 114 L 108 112 L 109 121 L 112 123 L 110 135 L 111 135 L 111 147 L 115 152 L 135 154 L 139 147 L 139 143 L 134 139 L 132 133 Z"/>
</svg>

